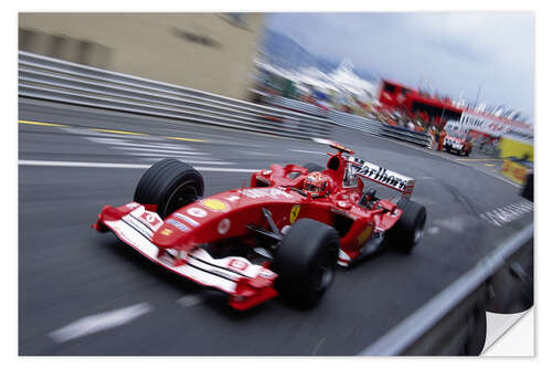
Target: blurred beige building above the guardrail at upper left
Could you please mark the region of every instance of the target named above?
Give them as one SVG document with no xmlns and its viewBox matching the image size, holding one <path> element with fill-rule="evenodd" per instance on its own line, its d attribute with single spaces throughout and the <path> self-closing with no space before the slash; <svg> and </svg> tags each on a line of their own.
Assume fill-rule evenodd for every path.
<svg viewBox="0 0 552 368">
<path fill-rule="evenodd" d="M 20 13 L 19 50 L 245 98 L 262 13 Z"/>
</svg>

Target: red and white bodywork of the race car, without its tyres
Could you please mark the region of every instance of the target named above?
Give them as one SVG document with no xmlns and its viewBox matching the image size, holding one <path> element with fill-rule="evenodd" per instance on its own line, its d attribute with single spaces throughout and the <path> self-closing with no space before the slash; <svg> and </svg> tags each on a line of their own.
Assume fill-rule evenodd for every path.
<svg viewBox="0 0 552 368">
<path fill-rule="evenodd" d="M 341 146 L 335 148 L 341 149 Z M 343 153 L 346 155 L 343 155 Z M 402 210 L 390 200 L 374 199 L 370 208 L 360 206 L 364 177 L 408 196 L 414 180 L 353 158 L 350 150 L 330 155 L 322 172 L 331 180 L 329 193 L 312 198 L 301 192 L 307 169 L 296 165 L 272 165 L 252 175 L 251 187 L 232 189 L 188 204 L 161 220 L 151 203 L 131 202 L 118 208 L 106 206 L 93 227 L 112 230 L 120 240 L 162 266 L 205 286 L 230 295 L 230 304 L 247 309 L 277 295 L 270 262 L 254 264 L 243 256 L 215 259 L 204 244 L 226 246 L 230 242 L 256 244 L 248 225 L 270 229 L 263 208 L 276 227 L 310 218 L 335 227 L 340 233 L 340 265 L 359 256 L 374 235 L 391 229 Z M 389 175 L 388 175 L 389 174 Z M 391 176 L 393 174 L 393 176 Z M 396 177 L 396 178 L 395 178 Z M 352 180 L 352 182 L 351 182 Z"/>
</svg>

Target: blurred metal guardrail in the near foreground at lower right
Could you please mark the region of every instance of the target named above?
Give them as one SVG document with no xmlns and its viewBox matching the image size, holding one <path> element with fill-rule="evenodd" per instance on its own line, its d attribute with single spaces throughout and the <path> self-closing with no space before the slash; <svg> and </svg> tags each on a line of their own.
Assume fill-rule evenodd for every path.
<svg viewBox="0 0 552 368">
<path fill-rule="evenodd" d="M 390 329 L 360 355 L 478 355 L 486 315 L 533 305 L 533 223 Z M 517 287 L 512 287 L 517 285 Z"/>
</svg>

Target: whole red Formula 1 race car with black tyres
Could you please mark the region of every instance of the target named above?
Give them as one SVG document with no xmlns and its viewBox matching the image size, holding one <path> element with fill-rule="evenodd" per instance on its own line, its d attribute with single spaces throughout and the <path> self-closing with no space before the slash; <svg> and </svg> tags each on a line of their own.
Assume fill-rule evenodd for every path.
<svg viewBox="0 0 552 368">
<path fill-rule="evenodd" d="M 316 305 L 336 264 L 350 266 L 386 244 L 410 252 L 426 210 L 411 201 L 414 180 L 337 149 L 327 168 L 272 165 L 251 187 L 209 198 L 191 166 L 163 159 L 141 177 L 134 202 L 106 206 L 93 224 L 153 262 L 230 295 L 247 309 L 278 294 Z M 361 178 L 402 192 L 376 198 Z"/>
</svg>

